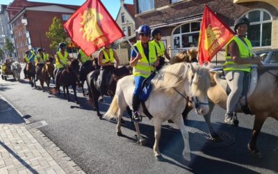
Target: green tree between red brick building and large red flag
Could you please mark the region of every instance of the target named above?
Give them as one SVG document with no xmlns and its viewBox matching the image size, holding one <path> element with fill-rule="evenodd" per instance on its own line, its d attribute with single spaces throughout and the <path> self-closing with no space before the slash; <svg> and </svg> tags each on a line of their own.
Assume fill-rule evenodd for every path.
<svg viewBox="0 0 278 174">
<path fill-rule="evenodd" d="M 58 17 L 54 17 L 52 19 L 52 24 L 49 27 L 49 31 L 47 31 L 47 33 L 45 34 L 47 35 L 47 38 L 49 38 L 49 40 L 51 41 L 49 47 L 54 51 L 57 49 L 59 43 L 65 42 L 65 39 L 67 38 L 62 23 L 60 22 L 60 19 Z"/>
</svg>

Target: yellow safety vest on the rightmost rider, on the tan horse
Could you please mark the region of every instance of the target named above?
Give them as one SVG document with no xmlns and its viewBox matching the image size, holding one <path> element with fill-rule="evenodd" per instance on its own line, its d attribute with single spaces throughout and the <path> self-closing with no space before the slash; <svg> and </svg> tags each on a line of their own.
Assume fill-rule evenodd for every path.
<svg viewBox="0 0 278 174">
<path fill-rule="evenodd" d="M 244 43 L 242 42 L 242 40 L 240 40 L 240 38 L 238 38 L 237 36 L 234 36 L 234 38 L 232 38 L 226 45 L 225 48 L 225 52 L 226 52 L 226 62 L 223 64 L 224 71 L 234 71 L 234 70 L 240 70 L 240 71 L 246 71 L 246 72 L 250 72 L 251 71 L 251 64 L 237 64 L 234 63 L 233 60 L 231 60 L 231 56 L 227 55 L 227 50 L 228 50 L 228 45 L 231 41 L 235 41 L 236 44 L 238 45 L 238 49 L 239 49 L 239 53 L 240 53 L 240 58 L 250 58 L 252 57 L 252 52 L 250 52 L 250 50 L 252 50 L 252 44 L 250 42 L 250 40 L 248 40 L 247 38 L 244 38 L 247 47 L 250 48 L 250 50 L 248 50 Z"/>
</svg>

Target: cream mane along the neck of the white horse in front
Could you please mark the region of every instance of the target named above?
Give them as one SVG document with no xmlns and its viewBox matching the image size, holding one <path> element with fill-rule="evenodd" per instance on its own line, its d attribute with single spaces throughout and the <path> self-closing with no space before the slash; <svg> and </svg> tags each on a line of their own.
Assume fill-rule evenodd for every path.
<svg viewBox="0 0 278 174">
<path fill-rule="evenodd" d="M 166 65 L 152 80 L 154 88 L 169 89 L 179 85 L 179 83 L 188 75 L 188 66 L 186 63 L 175 63 Z"/>
</svg>

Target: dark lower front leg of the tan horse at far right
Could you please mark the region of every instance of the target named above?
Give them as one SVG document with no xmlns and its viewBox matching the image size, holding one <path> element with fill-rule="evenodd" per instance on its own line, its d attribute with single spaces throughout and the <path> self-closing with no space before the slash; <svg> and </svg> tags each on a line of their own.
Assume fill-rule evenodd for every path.
<svg viewBox="0 0 278 174">
<path fill-rule="evenodd" d="M 255 115 L 255 121 L 253 126 L 253 132 L 252 132 L 252 138 L 249 141 L 247 147 L 248 149 L 254 154 L 258 155 L 259 150 L 256 148 L 256 140 L 258 139 L 258 136 L 261 132 L 261 127 L 263 126 L 263 123 L 265 122 L 265 119 L 268 118 L 266 114 L 263 113 L 257 113 Z"/>
</svg>

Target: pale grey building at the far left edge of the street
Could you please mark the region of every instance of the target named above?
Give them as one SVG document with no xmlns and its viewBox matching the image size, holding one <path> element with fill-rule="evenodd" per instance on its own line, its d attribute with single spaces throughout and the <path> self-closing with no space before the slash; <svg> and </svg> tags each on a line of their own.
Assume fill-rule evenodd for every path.
<svg viewBox="0 0 278 174">
<path fill-rule="evenodd" d="M 6 39 L 12 42 L 12 38 L 10 35 L 10 26 L 8 24 L 8 13 L 6 11 L 6 5 L 0 5 L 0 49 L 3 50 L 3 57 L 0 59 L 7 58 L 8 52 L 6 52 L 3 48 L 6 44 Z"/>
</svg>

